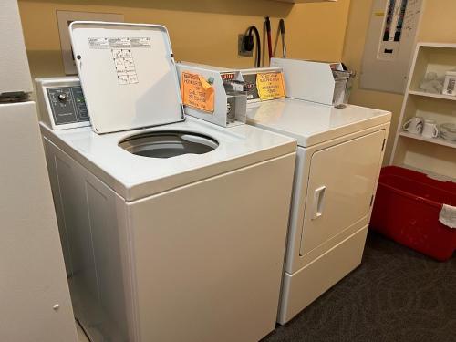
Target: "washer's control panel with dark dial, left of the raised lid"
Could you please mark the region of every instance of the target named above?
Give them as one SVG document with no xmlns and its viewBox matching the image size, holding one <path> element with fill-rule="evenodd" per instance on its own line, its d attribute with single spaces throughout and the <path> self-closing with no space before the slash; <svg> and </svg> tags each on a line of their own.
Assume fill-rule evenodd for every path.
<svg viewBox="0 0 456 342">
<path fill-rule="evenodd" d="M 36 78 L 36 93 L 40 119 L 53 130 L 90 125 L 78 78 Z"/>
</svg>

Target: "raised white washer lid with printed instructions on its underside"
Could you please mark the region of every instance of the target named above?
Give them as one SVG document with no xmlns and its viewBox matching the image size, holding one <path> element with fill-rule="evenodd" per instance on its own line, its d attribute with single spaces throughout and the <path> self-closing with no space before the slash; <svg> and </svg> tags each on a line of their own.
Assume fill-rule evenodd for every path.
<svg viewBox="0 0 456 342">
<path fill-rule="evenodd" d="M 166 27 L 75 21 L 69 32 L 93 130 L 108 133 L 184 119 Z"/>
</svg>

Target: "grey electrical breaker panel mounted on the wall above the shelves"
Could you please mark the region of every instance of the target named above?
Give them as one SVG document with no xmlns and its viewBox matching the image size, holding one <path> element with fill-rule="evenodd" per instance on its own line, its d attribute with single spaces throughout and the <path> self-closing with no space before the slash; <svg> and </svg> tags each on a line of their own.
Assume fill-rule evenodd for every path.
<svg viewBox="0 0 456 342">
<path fill-rule="evenodd" d="M 403 94 L 424 0 L 374 0 L 359 88 Z"/>
</svg>

